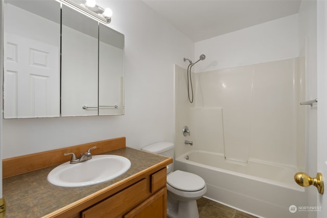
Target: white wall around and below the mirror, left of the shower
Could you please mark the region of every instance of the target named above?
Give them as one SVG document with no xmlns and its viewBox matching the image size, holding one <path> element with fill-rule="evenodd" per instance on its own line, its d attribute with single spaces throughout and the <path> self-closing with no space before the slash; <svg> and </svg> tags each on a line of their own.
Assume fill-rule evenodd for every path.
<svg viewBox="0 0 327 218">
<path fill-rule="evenodd" d="M 174 139 L 174 64 L 194 43 L 142 1 L 98 1 L 125 35 L 125 115 L 3 120 L 3 158 L 126 136 L 142 148 Z"/>
</svg>

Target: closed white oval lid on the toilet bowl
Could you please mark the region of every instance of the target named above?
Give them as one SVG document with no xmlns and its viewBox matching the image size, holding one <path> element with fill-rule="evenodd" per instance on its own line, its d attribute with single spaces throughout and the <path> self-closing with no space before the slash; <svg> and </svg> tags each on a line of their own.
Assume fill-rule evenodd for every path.
<svg viewBox="0 0 327 218">
<path fill-rule="evenodd" d="M 182 191 L 197 191 L 205 186 L 205 182 L 201 177 L 184 171 L 175 171 L 169 174 L 167 183 Z"/>
</svg>

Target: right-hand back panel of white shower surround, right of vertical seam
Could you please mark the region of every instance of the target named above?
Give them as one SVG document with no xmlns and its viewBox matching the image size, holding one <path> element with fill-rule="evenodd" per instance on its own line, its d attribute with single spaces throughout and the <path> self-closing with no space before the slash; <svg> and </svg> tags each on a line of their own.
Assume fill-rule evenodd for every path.
<svg viewBox="0 0 327 218">
<path fill-rule="evenodd" d="M 296 163 L 297 109 L 300 107 L 296 64 L 297 59 L 288 59 L 254 66 L 251 158 Z"/>
</svg>

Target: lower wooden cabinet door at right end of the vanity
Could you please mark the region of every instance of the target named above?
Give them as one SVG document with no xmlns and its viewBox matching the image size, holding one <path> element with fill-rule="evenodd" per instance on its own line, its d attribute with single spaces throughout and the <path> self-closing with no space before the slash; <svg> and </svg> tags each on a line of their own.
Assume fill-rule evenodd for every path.
<svg viewBox="0 0 327 218">
<path fill-rule="evenodd" d="M 167 217 L 167 187 L 161 188 L 147 200 L 139 204 L 130 212 L 124 215 L 124 218 L 166 218 Z"/>
</svg>

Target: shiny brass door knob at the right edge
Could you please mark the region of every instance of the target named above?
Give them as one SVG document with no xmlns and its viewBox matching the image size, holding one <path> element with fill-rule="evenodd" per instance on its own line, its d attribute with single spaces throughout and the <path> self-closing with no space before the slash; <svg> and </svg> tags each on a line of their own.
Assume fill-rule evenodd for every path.
<svg viewBox="0 0 327 218">
<path fill-rule="evenodd" d="M 299 172 L 294 175 L 294 180 L 303 187 L 314 185 L 317 187 L 318 192 L 323 194 L 323 177 L 321 173 L 317 173 L 316 178 L 311 178 L 308 174 Z"/>
</svg>

